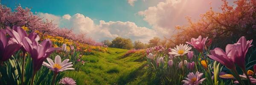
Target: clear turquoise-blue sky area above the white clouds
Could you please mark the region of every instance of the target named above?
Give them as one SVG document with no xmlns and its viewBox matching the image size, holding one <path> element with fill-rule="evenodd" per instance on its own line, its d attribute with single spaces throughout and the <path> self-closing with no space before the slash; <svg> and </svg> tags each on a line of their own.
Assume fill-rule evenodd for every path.
<svg viewBox="0 0 256 85">
<path fill-rule="evenodd" d="M 84 14 L 93 19 L 96 24 L 99 20 L 105 21 L 131 21 L 137 26 L 151 28 L 142 16 L 136 15 L 138 11 L 157 5 L 163 0 L 138 0 L 130 6 L 127 0 L 3 0 L 1 4 L 10 8 L 17 5 L 31 8 L 33 12 L 43 12 L 62 16 L 64 14 Z"/>
</svg>

